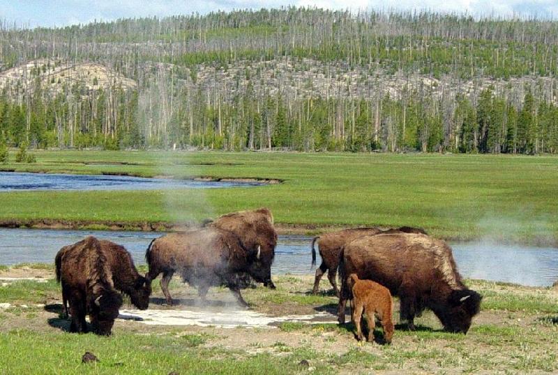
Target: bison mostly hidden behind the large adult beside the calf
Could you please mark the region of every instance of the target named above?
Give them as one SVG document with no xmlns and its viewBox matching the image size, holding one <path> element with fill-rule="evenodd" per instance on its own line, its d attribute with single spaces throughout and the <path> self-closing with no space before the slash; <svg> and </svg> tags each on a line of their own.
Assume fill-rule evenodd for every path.
<svg viewBox="0 0 558 375">
<path fill-rule="evenodd" d="M 400 228 L 393 228 L 388 230 L 382 230 L 377 227 L 364 227 L 364 228 L 348 228 L 337 230 L 335 232 L 326 233 L 325 235 L 320 235 L 312 239 L 312 266 L 316 264 L 316 249 L 314 247 L 315 242 L 318 242 L 319 256 L 322 257 L 322 264 L 316 270 L 316 277 L 314 280 L 314 288 L 312 293 L 317 294 L 319 288 L 319 280 L 327 271 L 327 278 L 333 286 L 333 291 L 335 295 L 339 297 L 339 290 L 337 288 L 337 283 L 335 282 L 335 274 L 337 274 L 337 267 L 339 265 L 339 254 L 343 245 L 348 244 L 356 238 L 365 235 L 376 235 L 377 233 L 392 233 L 392 232 L 404 232 L 404 233 L 423 233 L 425 231 L 421 228 L 412 228 L 409 226 L 402 226 Z"/>
</svg>

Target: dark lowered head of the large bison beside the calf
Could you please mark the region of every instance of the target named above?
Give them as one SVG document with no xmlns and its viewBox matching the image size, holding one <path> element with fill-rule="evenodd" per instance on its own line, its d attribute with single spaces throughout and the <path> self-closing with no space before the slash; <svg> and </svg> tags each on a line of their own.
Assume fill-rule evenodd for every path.
<svg viewBox="0 0 558 375">
<path fill-rule="evenodd" d="M 466 334 L 473 316 L 481 309 L 481 295 L 470 289 L 451 291 L 447 305 L 439 314 L 444 330 Z"/>
</svg>

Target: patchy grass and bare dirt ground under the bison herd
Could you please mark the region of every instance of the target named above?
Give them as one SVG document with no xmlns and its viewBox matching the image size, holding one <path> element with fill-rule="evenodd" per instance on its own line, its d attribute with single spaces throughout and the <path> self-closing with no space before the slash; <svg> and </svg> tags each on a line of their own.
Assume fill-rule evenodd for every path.
<svg viewBox="0 0 558 375">
<path fill-rule="evenodd" d="M 14 267 L 17 268 L 17 267 Z M 12 268 L 4 270 L 9 274 Z M 393 344 L 359 343 L 352 324 L 280 323 L 277 328 L 156 326 L 116 321 L 110 338 L 69 334 L 60 318 L 59 286 L 52 270 L 46 282 L 13 281 L 0 286 L 0 368 L 6 374 L 478 374 L 556 373 L 558 292 L 485 281 L 467 281 L 484 295 L 481 314 L 467 335 L 442 332 L 429 311 L 417 330 L 396 326 Z M 0 276 L 2 274 L 0 273 Z M 322 290 L 310 295 L 312 277 L 276 277 L 277 290 L 243 292 L 250 308 L 274 316 L 336 309 L 337 299 Z M 163 297 L 153 284 L 150 309 Z M 325 284 L 322 286 L 325 288 Z M 174 298 L 197 293 L 175 280 Z M 229 291 L 213 288 L 209 300 Z M 395 303 L 397 310 L 398 303 Z M 173 309 L 183 309 L 179 305 Z M 186 307 L 187 308 L 187 307 Z M 210 314 L 210 313 L 209 313 Z M 398 316 L 398 311 L 394 312 Z M 395 322 L 398 318 L 395 318 Z M 377 337 L 382 330 L 377 328 Z M 100 362 L 82 364 L 85 351 Z M 308 367 L 299 365 L 308 361 Z"/>
</svg>

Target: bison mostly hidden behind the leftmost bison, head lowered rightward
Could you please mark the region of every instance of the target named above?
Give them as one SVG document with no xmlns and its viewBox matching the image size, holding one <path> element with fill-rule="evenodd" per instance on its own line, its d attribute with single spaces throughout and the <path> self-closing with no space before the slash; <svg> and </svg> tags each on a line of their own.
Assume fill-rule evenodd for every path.
<svg viewBox="0 0 558 375">
<path fill-rule="evenodd" d="M 78 242 L 79 244 L 80 242 Z M 107 264 L 112 274 L 114 288 L 130 297 L 131 302 L 140 310 L 147 309 L 149 306 L 149 295 L 151 295 L 151 280 L 143 277 L 134 265 L 132 256 L 128 251 L 114 242 L 100 240 L 100 247 L 103 249 Z M 56 272 L 61 266 L 61 257 L 68 249 L 73 249 L 77 244 L 63 247 L 56 254 Z M 66 295 L 62 293 L 63 312 L 68 316 L 68 305 Z"/>
</svg>

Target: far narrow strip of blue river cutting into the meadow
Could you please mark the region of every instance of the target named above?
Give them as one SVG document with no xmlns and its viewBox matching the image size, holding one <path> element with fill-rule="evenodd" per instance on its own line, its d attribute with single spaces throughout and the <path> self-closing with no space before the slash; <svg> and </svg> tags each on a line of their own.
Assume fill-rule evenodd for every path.
<svg viewBox="0 0 558 375">
<path fill-rule="evenodd" d="M 215 189 L 259 185 L 262 184 L 259 182 L 213 182 L 130 176 L 0 172 L 0 191 Z"/>
</svg>

